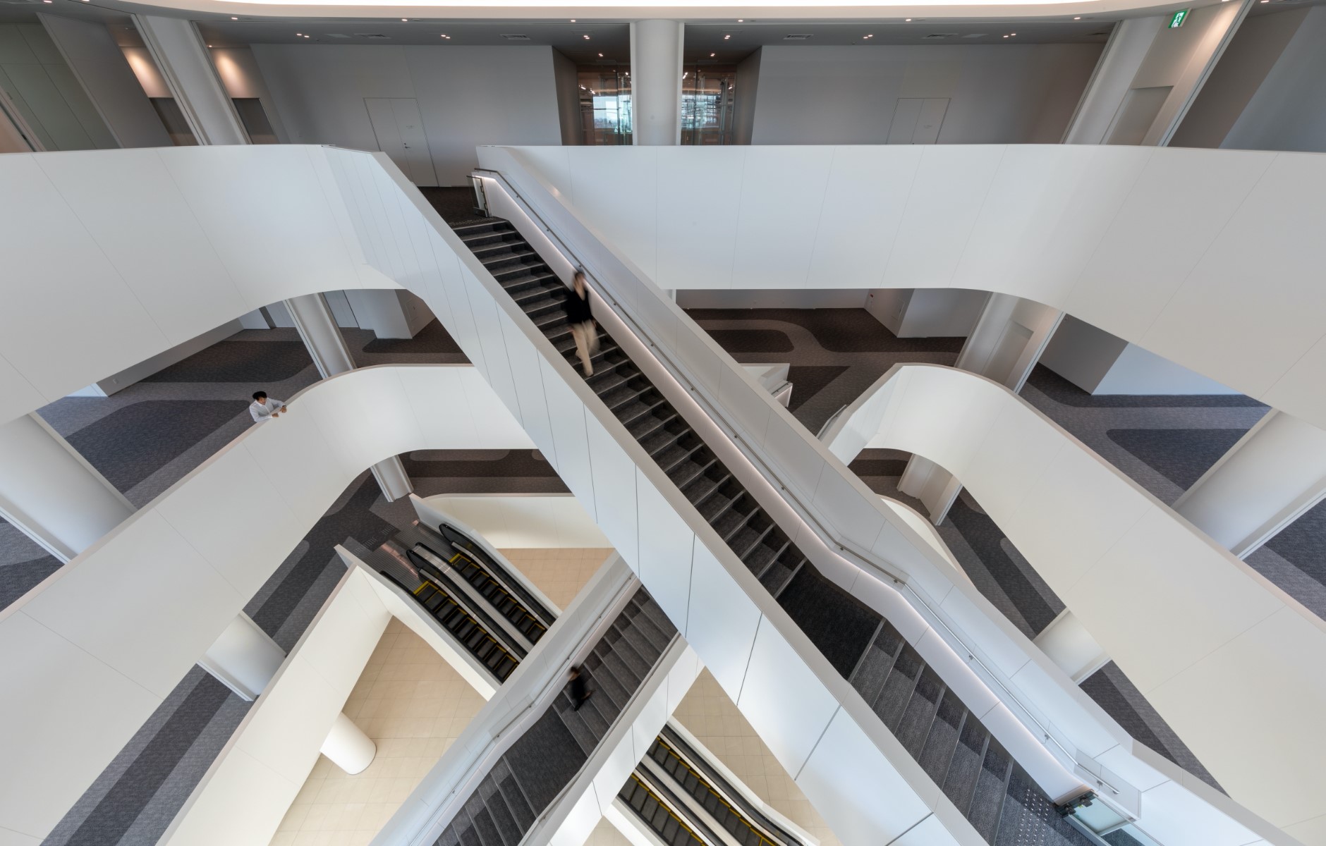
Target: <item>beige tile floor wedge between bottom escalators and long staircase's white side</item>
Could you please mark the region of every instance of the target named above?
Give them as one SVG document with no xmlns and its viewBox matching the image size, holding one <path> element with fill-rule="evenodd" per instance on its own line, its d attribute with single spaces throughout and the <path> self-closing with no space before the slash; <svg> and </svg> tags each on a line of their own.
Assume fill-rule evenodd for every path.
<svg viewBox="0 0 1326 846">
<path fill-rule="evenodd" d="M 672 716 L 756 796 L 819 838 L 822 846 L 839 846 L 838 837 L 708 670 L 700 671 Z"/>
</svg>

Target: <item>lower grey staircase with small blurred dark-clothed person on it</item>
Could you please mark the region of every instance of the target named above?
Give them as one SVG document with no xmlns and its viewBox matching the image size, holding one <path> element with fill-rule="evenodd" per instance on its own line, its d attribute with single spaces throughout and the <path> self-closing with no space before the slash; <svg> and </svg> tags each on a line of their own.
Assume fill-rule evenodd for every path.
<svg viewBox="0 0 1326 846">
<path fill-rule="evenodd" d="M 590 697 L 574 708 L 570 686 L 501 756 L 435 841 L 438 846 L 517 846 L 607 735 L 676 629 L 640 587 L 581 666 Z"/>
</svg>

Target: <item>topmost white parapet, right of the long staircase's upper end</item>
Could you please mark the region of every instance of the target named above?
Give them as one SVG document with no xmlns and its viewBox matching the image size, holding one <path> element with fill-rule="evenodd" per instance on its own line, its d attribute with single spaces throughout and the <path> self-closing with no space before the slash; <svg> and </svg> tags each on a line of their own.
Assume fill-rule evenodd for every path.
<svg viewBox="0 0 1326 846">
<path fill-rule="evenodd" d="M 480 163 L 489 150 L 499 149 L 480 147 Z M 1326 427 L 1326 155 L 1085 145 L 501 150 L 659 288 L 1008 293 Z M 707 237 L 695 237 L 697 227 Z"/>
</svg>

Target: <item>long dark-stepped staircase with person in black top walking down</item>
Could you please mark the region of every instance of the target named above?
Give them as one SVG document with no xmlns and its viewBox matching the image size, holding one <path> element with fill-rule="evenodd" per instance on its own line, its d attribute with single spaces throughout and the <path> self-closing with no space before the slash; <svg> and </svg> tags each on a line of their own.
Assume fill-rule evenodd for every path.
<svg viewBox="0 0 1326 846">
<path fill-rule="evenodd" d="M 493 217 L 453 229 L 578 370 L 569 292 L 514 227 Z M 898 630 L 810 564 L 611 337 L 591 361 L 585 381 L 598 398 L 988 843 L 1087 846 Z"/>
</svg>

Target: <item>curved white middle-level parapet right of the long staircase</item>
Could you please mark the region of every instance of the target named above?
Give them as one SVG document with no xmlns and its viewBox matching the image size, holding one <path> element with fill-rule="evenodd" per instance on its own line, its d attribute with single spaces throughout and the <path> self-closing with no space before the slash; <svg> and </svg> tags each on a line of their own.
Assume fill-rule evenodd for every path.
<svg viewBox="0 0 1326 846">
<path fill-rule="evenodd" d="M 1326 623 L 1009 389 L 895 366 L 825 432 L 953 473 L 1229 794 L 1305 841 Z M 1107 765 L 1107 758 L 1102 758 Z M 1284 784 L 1298 790 L 1286 794 Z M 1146 794 L 1143 794 L 1146 801 Z"/>
</svg>

